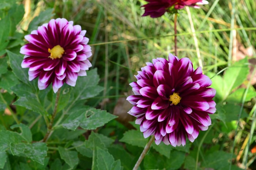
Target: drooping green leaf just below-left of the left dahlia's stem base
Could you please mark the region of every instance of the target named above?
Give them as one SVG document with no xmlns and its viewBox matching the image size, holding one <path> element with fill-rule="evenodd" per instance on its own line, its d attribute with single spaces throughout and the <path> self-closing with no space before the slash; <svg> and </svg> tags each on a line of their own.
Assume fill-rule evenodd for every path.
<svg viewBox="0 0 256 170">
<path fill-rule="evenodd" d="M 26 145 L 24 153 L 28 158 L 44 165 L 45 157 L 47 156 L 47 150 L 48 148 L 46 143 L 37 142 Z"/>
</svg>

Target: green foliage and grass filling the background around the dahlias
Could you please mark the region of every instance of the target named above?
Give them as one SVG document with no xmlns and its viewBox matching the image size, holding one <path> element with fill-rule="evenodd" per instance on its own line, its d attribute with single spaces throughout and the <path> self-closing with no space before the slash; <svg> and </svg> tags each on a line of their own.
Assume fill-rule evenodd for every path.
<svg viewBox="0 0 256 170">
<path fill-rule="evenodd" d="M 0 0 L 0 169 L 132 169 L 149 138 L 134 121 L 135 128 L 127 125 L 131 107 L 120 101 L 130 94 L 135 71 L 174 52 L 173 16 L 141 17 L 142 0 L 22 2 Z M 177 47 L 178 57 L 189 57 L 195 67 L 202 60 L 203 72 L 212 80 L 217 92 L 212 125 L 185 146 L 153 142 L 140 169 L 255 167 L 249 148 L 256 139 L 256 91 L 248 80 L 255 69 L 256 5 L 249 0 L 209 3 L 189 8 L 198 44 L 188 13 L 180 10 Z M 38 79 L 29 81 L 19 51 L 28 43 L 25 35 L 58 17 L 87 30 L 93 67 L 78 77 L 75 87 L 64 84 L 56 103 L 52 85 L 39 90 Z M 121 123 L 113 121 L 116 115 Z"/>
</svg>

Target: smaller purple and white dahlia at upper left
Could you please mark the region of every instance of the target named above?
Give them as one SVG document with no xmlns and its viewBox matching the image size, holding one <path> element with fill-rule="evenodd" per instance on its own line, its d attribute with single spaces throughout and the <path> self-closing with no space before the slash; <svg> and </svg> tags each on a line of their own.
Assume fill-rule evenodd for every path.
<svg viewBox="0 0 256 170">
<path fill-rule="evenodd" d="M 20 48 L 25 55 L 21 66 L 29 67 L 30 81 L 39 77 L 39 90 L 52 83 L 56 93 L 63 83 L 75 86 L 78 76 L 86 76 L 92 53 L 85 33 L 73 21 L 57 18 L 25 36 L 29 43 Z"/>
</svg>

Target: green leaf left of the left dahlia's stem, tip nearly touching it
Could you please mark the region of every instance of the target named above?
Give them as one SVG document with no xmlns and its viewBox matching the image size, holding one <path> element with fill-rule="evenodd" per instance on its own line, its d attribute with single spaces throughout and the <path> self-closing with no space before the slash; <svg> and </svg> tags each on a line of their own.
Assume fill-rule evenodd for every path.
<svg viewBox="0 0 256 170">
<path fill-rule="evenodd" d="M 42 115 L 47 114 L 47 112 L 44 109 L 44 106 L 42 106 L 42 104 L 38 102 L 37 96 L 35 94 L 32 94 L 32 93 L 29 96 L 20 97 L 13 104 L 25 107 L 29 110 L 33 110 L 33 111 L 38 112 Z"/>
</svg>

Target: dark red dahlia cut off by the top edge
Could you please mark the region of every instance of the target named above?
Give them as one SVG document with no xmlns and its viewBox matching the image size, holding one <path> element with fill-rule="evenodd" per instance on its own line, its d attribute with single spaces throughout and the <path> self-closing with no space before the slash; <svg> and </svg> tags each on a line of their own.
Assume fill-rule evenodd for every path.
<svg viewBox="0 0 256 170">
<path fill-rule="evenodd" d="M 142 16 L 150 15 L 152 18 L 160 17 L 165 12 L 177 12 L 185 6 L 200 8 L 198 5 L 208 4 L 206 0 L 146 0 L 149 3 L 143 5 L 145 13 Z"/>
</svg>

